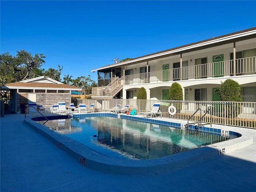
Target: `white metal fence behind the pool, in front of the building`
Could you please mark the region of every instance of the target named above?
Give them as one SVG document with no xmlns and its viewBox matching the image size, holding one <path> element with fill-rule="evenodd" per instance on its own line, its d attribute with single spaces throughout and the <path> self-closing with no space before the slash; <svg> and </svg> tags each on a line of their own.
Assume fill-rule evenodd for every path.
<svg viewBox="0 0 256 192">
<path fill-rule="evenodd" d="M 212 101 L 170 101 L 170 100 L 136 100 L 136 99 L 75 99 L 72 100 L 76 106 L 85 103 L 90 106 L 95 104 L 97 110 L 107 110 L 122 104 L 130 105 L 136 109 L 136 113 L 151 110 L 154 103 L 160 103 L 162 117 L 188 120 L 190 116 L 200 108 L 202 115 L 210 108 L 211 115 L 206 114 L 202 122 L 222 125 L 239 126 L 256 129 L 256 102 L 212 102 Z M 169 106 L 174 106 L 177 112 L 170 115 Z M 198 122 L 200 114 L 196 114 L 191 120 Z"/>
</svg>

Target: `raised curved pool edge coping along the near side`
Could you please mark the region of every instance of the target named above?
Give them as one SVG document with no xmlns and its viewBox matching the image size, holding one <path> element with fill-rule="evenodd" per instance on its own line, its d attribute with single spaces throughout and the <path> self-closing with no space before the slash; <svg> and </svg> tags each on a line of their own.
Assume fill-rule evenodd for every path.
<svg viewBox="0 0 256 192">
<path fill-rule="evenodd" d="M 242 134 L 242 136 L 235 139 L 226 140 L 158 159 L 124 160 L 111 158 L 92 151 L 90 148 L 87 148 L 79 142 L 54 132 L 30 118 L 24 119 L 24 123 L 56 144 L 58 148 L 67 152 L 82 166 L 108 174 L 152 175 L 171 172 L 204 160 L 228 154 L 250 146 L 253 143 L 252 136 Z"/>
</svg>

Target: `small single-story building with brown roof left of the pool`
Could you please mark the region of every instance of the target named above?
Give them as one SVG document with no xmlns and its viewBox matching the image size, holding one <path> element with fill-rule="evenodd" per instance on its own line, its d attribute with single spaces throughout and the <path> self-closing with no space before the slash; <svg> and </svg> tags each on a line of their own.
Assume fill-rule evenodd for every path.
<svg viewBox="0 0 256 192">
<path fill-rule="evenodd" d="M 71 92 L 81 88 L 63 84 L 52 78 L 40 76 L 1 86 L 1 91 L 8 91 L 10 100 L 8 109 L 14 113 L 24 113 L 28 102 L 52 105 L 58 101 L 71 102 Z"/>
</svg>

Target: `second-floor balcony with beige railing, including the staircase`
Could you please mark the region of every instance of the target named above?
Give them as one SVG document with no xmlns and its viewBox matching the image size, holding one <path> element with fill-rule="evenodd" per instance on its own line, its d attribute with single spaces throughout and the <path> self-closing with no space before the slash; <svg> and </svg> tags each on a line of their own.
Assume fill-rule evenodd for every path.
<svg viewBox="0 0 256 192">
<path fill-rule="evenodd" d="M 106 86 L 92 88 L 92 96 L 113 97 L 116 93 L 114 90 L 117 90 L 117 87 L 118 90 L 120 90 L 123 85 L 164 83 L 177 80 L 196 81 L 203 78 L 220 78 L 229 76 L 231 78 L 232 76 L 250 74 L 256 74 L 256 56 L 126 75 L 122 76 L 122 78 L 119 78 L 118 80 L 116 80 L 116 78 L 101 79 L 98 80 L 98 85 L 106 84 L 106 82 L 109 84 Z M 117 84 L 115 84 L 114 81 L 117 82 Z"/>
</svg>

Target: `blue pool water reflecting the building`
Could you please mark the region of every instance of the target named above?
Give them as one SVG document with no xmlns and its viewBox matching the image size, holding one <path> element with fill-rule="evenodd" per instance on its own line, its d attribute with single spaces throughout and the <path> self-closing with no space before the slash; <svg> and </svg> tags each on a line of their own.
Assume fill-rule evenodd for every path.
<svg viewBox="0 0 256 192">
<path fill-rule="evenodd" d="M 41 123 L 98 153 L 124 159 L 160 158 L 230 138 L 115 117 L 95 116 Z"/>
</svg>

